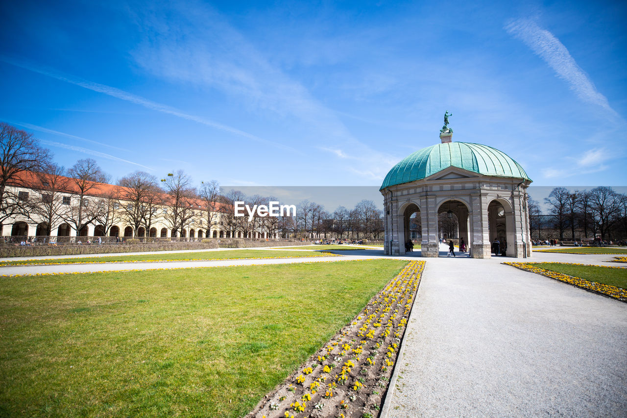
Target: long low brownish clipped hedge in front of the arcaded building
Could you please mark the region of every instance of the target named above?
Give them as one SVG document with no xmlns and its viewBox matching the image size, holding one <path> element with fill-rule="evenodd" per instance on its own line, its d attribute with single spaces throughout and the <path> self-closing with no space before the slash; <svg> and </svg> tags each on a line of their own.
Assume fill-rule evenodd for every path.
<svg viewBox="0 0 627 418">
<path fill-rule="evenodd" d="M 207 241 L 207 240 L 205 240 Z M 172 250 L 202 250 L 214 248 L 250 248 L 250 247 L 283 247 L 285 245 L 299 245 L 301 242 L 256 242 L 245 240 L 210 240 L 210 242 L 164 242 L 155 244 L 83 244 L 83 245 L 0 245 L 0 257 L 39 257 L 41 255 L 74 255 L 74 254 L 107 254 L 115 252 L 143 252 L 143 251 L 172 251 Z M 307 243 L 309 244 L 309 243 Z"/>
</svg>

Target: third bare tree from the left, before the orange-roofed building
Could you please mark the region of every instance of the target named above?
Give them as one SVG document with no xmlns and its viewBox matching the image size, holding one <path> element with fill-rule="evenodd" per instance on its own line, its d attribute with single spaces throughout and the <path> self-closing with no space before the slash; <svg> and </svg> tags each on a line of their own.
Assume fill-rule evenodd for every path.
<svg viewBox="0 0 627 418">
<path fill-rule="evenodd" d="M 97 199 L 93 196 L 102 193 L 102 183 L 108 183 L 107 174 L 102 171 L 95 160 L 79 159 L 69 170 L 71 188 L 78 197 L 78 205 L 70 204 L 61 217 L 65 222 L 76 228 L 76 237 L 98 217 Z M 92 198 L 88 198 L 92 196 Z M 72 199 L 73 200 L 73 199 Z"/>
</svg>

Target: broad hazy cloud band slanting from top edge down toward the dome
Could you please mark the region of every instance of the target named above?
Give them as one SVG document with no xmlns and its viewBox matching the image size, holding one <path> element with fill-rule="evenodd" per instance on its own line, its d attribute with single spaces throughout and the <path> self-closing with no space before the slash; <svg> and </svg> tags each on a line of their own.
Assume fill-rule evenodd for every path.
<svg viewBox="0 0 627 418">
<path fill-rule="evenodd" d="M 338 158 L 350 154 L 356 164 L 381 172 L 377 178 L 384 176 L 389 156 L 352 135 L 334 110 L 283 72 L 223 15 L 201 3 L 171 7 L 136 12 L 145 36 L 133 53 L 137 65 L 168 80 L 217 88 L 253 112 L 273 112 L 268 116 L 278 116 L 282 124 L 295 121 L 302 132 L 293 138 L 299 147 L 314 139 L 322 151 Z"/>
</svg>

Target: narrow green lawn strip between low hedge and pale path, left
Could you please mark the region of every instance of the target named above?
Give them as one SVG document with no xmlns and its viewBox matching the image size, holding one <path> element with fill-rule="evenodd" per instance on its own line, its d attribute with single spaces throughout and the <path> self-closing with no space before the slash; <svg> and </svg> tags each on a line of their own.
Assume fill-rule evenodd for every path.
<svg viewBox="0 0 627 418">
<path fill-rule="evenodd" d="M 231 251 L 207 251 L 207 252 L 179 252 L 174 254 L 142 254 L 142 255 L 103 255 L 102 257 L 76 257 L 67 259 L 47 260 L 15 260 L 0 262 L 0 264 L 46 264 L 60 262 L 116 262 L 116 261 L 145 261 L 145 260 L 214 260 L 214 259 L 250 259 L 271 257 L 312 257 L 310 251 L 273 251 L 273 250 L 231 250 Z"/>
</svg>

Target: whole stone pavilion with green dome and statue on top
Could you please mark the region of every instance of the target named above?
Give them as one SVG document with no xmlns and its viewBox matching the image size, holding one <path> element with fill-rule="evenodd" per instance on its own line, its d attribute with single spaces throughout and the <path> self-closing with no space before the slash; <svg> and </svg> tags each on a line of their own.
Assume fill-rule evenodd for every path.
<svg viewBox="0 0 627 418">
<path fill-rule="evenodd" d="M 453 130 L 445 119 L 441 143 L 410 154 L 381 185 L 385 254 L 405 254 L 405 243 L 412 239 L 421 242 L 423 257 L 438 257 L 440 238 L 452 238 L 463 239 L 473 258 L 491 257 L 495 240 L 508 257 L 529 257 L 531 179 L 498 149 L 452 142 Z M 449 225 L 446 236 L 438 217 Z M 457 227 L 451 232 L 453 217 Z"/>
</svg>

